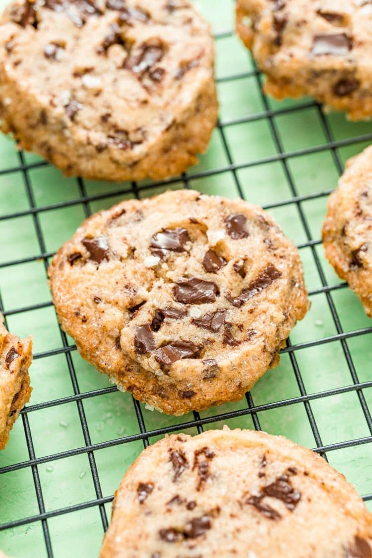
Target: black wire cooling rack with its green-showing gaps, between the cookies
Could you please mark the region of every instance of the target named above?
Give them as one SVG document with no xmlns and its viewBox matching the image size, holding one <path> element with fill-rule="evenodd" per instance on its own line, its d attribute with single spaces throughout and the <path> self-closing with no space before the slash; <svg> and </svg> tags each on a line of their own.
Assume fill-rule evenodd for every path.
<svg viewBox="0 0 372 558">
<path fill-rule="evenodd" d="M 0 547 L 9 555 L 98 555 L 113 492 L 143 447 L 167 433 L 223 424 L 312 448 L 371 507 L 372 323 L 325 261 L 320 240 L 327 196 L 345 160 L 372 140 L 371 124 L 324 114 L 311 99 L 266 97 L 233 34 L 233 3 L 197 4 L 214 25 L 221 109 L 209 152 L 187 174 L 121 185 L 65 179 L 0 141 L 0 310 L 9 329 L 33 334 L 35 348 L 32 399 L 0 454 Z M 180 187 L 269 210 L 299 248 L 312 308 L 279 367 L 243 401 L 167 417 L 109 386 L 80 358 L 57 325 L 46 270 L 92 212 Z"/>
</svg>

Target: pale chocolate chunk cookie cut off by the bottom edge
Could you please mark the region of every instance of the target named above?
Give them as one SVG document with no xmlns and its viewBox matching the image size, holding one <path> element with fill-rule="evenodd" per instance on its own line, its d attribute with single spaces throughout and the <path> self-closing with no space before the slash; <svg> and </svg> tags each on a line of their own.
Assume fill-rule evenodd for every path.
<svg viewBox="0 0 372 558">
<path fill-rule="evenodd" d="M 172 435 L 125 474 L 100 558 L 371 558 L 372 514 L 323 458 L 250 430 Z"/>
</svg>

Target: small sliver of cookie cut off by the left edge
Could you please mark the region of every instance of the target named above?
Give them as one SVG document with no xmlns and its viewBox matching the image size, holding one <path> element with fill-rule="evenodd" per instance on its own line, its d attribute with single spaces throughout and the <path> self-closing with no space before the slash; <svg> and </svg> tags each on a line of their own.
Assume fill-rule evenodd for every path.
<svg viewBox="0 0 372 558">
<path fill-rule="evenodd" d="M 0 315 L 0 450 L 7 445 L 13 424 L 30 400 L 31 350 L 31 338 L 21 340 L 8 333 Z"/>
</svg>

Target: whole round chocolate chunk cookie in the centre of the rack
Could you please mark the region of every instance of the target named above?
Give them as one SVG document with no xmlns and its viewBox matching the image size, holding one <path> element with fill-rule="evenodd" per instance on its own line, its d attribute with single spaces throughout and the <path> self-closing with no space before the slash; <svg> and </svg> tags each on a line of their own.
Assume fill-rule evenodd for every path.
<svg viewBox="0 0 372 558">
<path fill-rule="evenodd" d="M 192 190 L 94 215 L 49 276 L 81 355 L 174 415 L 243 397 L 308 308 L 297 249 L 274 220 Z"/>
</svg>

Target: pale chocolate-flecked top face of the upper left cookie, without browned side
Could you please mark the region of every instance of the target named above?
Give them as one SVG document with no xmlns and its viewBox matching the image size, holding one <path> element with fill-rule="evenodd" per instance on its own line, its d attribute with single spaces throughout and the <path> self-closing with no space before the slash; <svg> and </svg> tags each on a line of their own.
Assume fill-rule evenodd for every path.
<svg viewBox="0 0 372 558">
<path fill-rule="evenodd" d="M 49 134 L 62 126 L 67 143 L 128 164 L 213 79 L 210 28 L 187 0 L 16 0 L 0 52 L 3 80 L 34 99 Z"/>
</svg>

